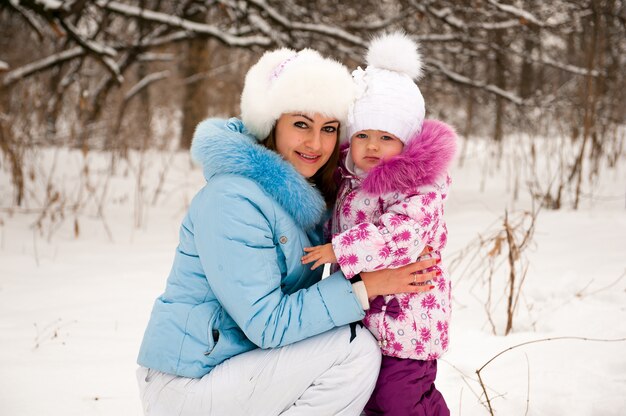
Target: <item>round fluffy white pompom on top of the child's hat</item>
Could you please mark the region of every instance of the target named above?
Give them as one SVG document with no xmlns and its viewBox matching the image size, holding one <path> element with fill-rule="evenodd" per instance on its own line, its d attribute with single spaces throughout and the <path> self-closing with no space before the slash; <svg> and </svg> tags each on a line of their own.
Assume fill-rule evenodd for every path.
<svg viewBox="0 0 626 416">
<path fill-rule="evenodd" d="M 417 50 L 417 44 L 401 32 L 372 39 L 366 59 L 368 65 L 400 72 L 411 79 L 422 76 L 422 56 Z"/>
</svg>

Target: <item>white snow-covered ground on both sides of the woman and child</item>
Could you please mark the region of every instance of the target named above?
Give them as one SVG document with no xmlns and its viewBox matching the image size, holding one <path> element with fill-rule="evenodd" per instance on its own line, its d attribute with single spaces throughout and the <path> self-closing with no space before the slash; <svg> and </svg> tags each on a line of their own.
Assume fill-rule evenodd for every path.
<svg viewBox="0 0 626 416">
<path fill-rule="evenodd" d="M 505 208 L 514 216 L 531 207 L 524 177 L 518 200 L 511 197 L 523 159 L 508 151 L 496 169 L 489 154 L 472 145 L 463 167 L 452 171 L 447 259 L 479 234 L 493 235 Z M 109 175 L 105 154 L 85 160 L 79 152 L 38 151 L 26 208 L 14 210 L 9 176 L 0 172 L 0 415 L 141 414 L 136 353 L 185 206 L 203 179 L 184 154 L 132 156 Z M 38 229 L 46 189 L 52 203 Z M 495 413 L 626 414 L 625 190 L 623 168 L 603 170 L 579 210 L 539 213 L 522 253 L 528 272 L 508 336 L 506 263 L 492 282 L 497 335 L 484 307 L 485 251 L 467 254 L 478 256 L 480 267 L 455 268 L 451 349 L 438 376 L 453 415 L 488 414 L 476 370 L 497 353 L 558 337 L 590 340 L 524 345 L 482 370 Z M 616 339 L 622 341 L 597 341 Z"/>
</svg>

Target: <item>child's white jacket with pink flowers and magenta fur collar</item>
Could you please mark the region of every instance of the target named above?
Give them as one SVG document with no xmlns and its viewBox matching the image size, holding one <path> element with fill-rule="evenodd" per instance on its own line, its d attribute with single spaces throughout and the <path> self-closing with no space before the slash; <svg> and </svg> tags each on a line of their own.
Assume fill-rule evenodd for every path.
<svg viewBox="0 0 626 416">
<path fill-rule="evenodd" d="M 415 262 L 427 245 L 440 256 L 447 238 L 447 169 L 455 150 L 452 128 L 426 120 L 400 155 L 382 162 L 364 179 L 340 168 L 331 230 L 338 265 L 347 278 Z M 450 280 L 444 267 L 436 267 L 442 274 L 433 279 L 432 291 L 371 299 L 363 323 L 383 354 L 435 360 L 447 350 Z"/>
</svg>

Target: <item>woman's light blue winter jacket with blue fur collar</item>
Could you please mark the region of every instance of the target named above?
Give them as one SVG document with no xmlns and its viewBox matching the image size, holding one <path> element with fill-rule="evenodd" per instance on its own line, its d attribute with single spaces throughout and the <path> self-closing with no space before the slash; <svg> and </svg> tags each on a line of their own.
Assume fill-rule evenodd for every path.
<svg viewBox="0 0 626 416">
<path fill-rule="evenodd" d="M 300 262 L 322 243 L 324 201 L 290 163 L 237 119 L 200 123 L 191 151 L 207 183 L 181 225 L 139 365 L 199 378 L 237 354 L 363 318 L 341 272 L 320 281 L 321 268 Z"/>
</svg>

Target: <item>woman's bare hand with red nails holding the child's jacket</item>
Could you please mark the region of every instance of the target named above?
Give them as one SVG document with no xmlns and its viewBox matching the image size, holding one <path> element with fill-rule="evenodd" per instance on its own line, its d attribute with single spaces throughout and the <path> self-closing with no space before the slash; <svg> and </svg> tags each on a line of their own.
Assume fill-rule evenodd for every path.
<svg viewBox="0 0 626 416">
<path fill-rule="evenodd" d="M 397 269 L 385 269 L 375 272 L 361 272 L 361 280 L 365 284 L 367 296 L 394 295 L 396 293 L 427 292 L 433 285 L 424 284 L 441 274 L 436 266 L 441 262 L 438 258 L 417 261 Z"/>
</svg>

